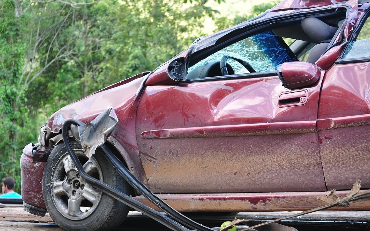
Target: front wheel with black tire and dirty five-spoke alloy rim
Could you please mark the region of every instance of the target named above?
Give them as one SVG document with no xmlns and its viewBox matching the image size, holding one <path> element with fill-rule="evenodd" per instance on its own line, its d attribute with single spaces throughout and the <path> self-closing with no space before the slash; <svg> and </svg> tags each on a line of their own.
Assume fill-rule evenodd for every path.
<svg viewBox="0 0 370 231">
<path fill-rule="evenodd" d="M 128 183 L 98 150 L 88 159 L 75 140 L 71 146 L 90 176 L 129 194 Z M 112 230 L 122 223 L 129 207 L 87 183 L 75 168 L 64 143 L 51 152 L 43 174 L 43 196 L 50 217 L 63 230 Z"/>
</svg>

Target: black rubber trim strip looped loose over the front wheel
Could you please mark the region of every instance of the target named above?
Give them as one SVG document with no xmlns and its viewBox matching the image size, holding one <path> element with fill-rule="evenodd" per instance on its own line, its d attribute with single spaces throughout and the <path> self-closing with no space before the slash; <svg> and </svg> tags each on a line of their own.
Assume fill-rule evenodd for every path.
<svg viewBox="0 0 370 231">
<path fill-rule="evenodd" d="M 102 145 L 101 149 L 106 154 L 108 160 L 112 163 L 113 167 L 121 174 L 121 176 L 127 180 L 127 182 L 133 186 L 135 189 L 137 189 L 139 192 L 141 192 L 145 197 L 147 197 L 150 201 L 152 201 L 155 205 L 157 205 L 159 208 L 161 208 L 163 211 L 165 211 L 170 217 L 172 217 L 175 220 L 172 220 L 170 217 L 168 217 L 165 214 L 159 213 L 158 211 L 155 211 L 154 209 L 148 207 L 145 204 L 140 203 L 139 201 L 131 198 L 130 196 L 127 196 L 126 194 L 122 193 L 121 191 L 109 186 L 108 184 L 105 184 L 104 182 L 101 182 L 100 180 L 97 180 L 91 176 L 89 176 L 83 169 L 82 164 L 80 163 L 80 160 L 78 160 L 76 154 L 74 153 L 73 148 L 70 145 L 69 139 L 68 139 L 68 130 L 71 125 L 78 125 L 78 126 L 84 126 L 85 123 L 78 121 L 78 120 L 67 120 L 64 122 L 62 135 L 63 135 L 63 142 L 64 145 L 73 160 L 75 167 L 77 168 L 78 172 L 80 173 L 80 176 L 83 177 L 87 182 L 92 184 L 94 187 L 96 187 L 98 190 L 102 191 L 103 193 L 106 193 L 107 195 L 121 201 L 124 204 L 129 205 L 130 207 L 134 208 L 135 210 L 147 215 L 148 217 L 157 220 L 161 224 L 165 225 L 168 228 L 171 228 L 172 230 L 176 231 L 190 231 L 188 228 L 185 228 L 183 225 L 179 224 L 178 222 L 182 222 L 182 224 L 187 225 L 188 227 L 194 228 L 195 230 L 199 231 L 213 231 L 213 229 L 206 227 L 204 225 L 201 225 L 193 220 L 191 220 L 188 217 L 185 217 L 178 211 L 174 210 L 171 206 L 166 204 L 164 201 L 162 201 L 160 198 L 155 196 L 147 187 L 144 186 L 140 181 L 138 181 L 128 170 L 127 168 L 114 156 L 112 152 L 105 146 Z M 109 151 L 109 152 L 108 152 Z M 116 165 L 117 164 L 117 165 Z M 128 174 L 129 173 L 129 174 Z"/>
</svg>

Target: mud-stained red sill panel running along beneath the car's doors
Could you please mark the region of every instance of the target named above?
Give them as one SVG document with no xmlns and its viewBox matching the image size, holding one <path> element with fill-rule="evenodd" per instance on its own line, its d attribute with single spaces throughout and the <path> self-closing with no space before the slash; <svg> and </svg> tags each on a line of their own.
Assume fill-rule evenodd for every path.
<svg viewBox="0 0 370 231">
<path fill-rule="evenodd" d="M 365 190 L 360 190 L 360 192 Z M 342 198 L 349 191 L 337 191 Z M 156 194 L 179 212 L 192 211 L 303 211 L 327 205 L 318 200 L 327 192 L 290 192 L 290 193 L 217 193 L 217 194 Z M 144 196 L 136 200 L 155 208 Z M 350 204 L 349 207 L 334 207 L 330 210 L 369 210 L 370 201 Z M 216 209 L 216 210 L 215 210 Z"/>
</svg>

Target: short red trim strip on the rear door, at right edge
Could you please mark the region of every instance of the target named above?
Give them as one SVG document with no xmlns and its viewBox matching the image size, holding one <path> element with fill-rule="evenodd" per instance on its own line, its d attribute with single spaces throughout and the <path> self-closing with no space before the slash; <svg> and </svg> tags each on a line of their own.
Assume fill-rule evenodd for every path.
<svg viewBox="0 0 370 231">
<path fill-rule="evenodd" d="M 370 124 L 370 114 L 343 116 L 330 119 L 318 119 L 317 130 L 329 130 L 336 128 L 356 127 Z"/>
</svg>

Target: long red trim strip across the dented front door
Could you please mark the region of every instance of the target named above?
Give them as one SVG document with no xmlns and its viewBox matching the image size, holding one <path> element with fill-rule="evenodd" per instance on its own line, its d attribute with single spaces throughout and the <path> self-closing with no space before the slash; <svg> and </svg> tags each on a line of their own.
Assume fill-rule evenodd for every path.
<svg viewBox="0 0 370 231">
<path fill-rule="evenodd" d="M 316 132 L 316 121 L 253 123 L 242 125 L 206 126 L 151 130 L 141 133 L 144 139 L 176 139 L 227 136 L 258 136 Z"/>
</svg>

